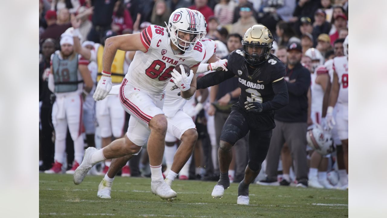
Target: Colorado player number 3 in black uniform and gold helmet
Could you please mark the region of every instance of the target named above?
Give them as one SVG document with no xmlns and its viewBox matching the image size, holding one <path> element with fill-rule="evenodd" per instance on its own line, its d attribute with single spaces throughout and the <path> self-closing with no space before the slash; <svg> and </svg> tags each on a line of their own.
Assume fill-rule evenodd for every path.
<svg viewBox="0 0 387 218">
<path fill-rule="evenodd" d="M 228 71 L 209 73 L 197 81 L 197 89 L 219 84 L 237 76 L 241 88 L 239 101 L 233 105 L 220 137 L 218 159 L 220 179 L 212 197 L 223 197 L 230 185 L 228 168 L 233 157 L 231 147 L 250 131 L 249 162 L 245 178 L 238 187 L 238 204 L 249 204 L 248 187 L 257 177 L 270 145 L 275 127 L 274 111 L 288 104 L 284 64 L 274 55 L 274 41 L 265 26 L 254 25 L 243 36 L 243 48 L 228 56 Z"/>
</svg>

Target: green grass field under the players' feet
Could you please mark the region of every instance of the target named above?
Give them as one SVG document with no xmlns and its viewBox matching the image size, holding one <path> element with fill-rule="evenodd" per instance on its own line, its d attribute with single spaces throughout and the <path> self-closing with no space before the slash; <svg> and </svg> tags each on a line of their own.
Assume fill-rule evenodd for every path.
<svg viewBox="0 0 387 218">
<path fill-rule="evenodd" d="M 99 199 L 102 176 L 86 176 L 74 185 L 72 175 L 39 173 L 39 217 L 348 217 L 348 191 L 250 185 L 250 205 L 236 204 L 238 184 L 213 199 L 215 182 L 175 180 L 177 199 L 151 193 L 150 178 L 113 182 L 112 199 Z"/>
</svg>

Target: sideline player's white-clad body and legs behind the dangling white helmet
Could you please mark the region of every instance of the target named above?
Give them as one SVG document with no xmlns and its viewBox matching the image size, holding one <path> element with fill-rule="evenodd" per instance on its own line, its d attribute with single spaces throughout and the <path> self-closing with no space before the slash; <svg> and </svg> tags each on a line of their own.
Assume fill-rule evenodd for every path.
<svg viewBox="0 0 387 218">
<path fill-rule="evenodd" d="M 328 70 L 324 65 L 320 65 L 315 69 L 315 72 L 310 74 L 311 79 L 311 94 L 312 105 L 310 116 L 314 125 L 321 125 L 322 102 L 324 93 L 329 82 Z M 328 157 L 322 156 L 317 151 L 313 151 L 310 157 L 310 169 L 308 175 L 308 185 L 314 188 L 332 189 L 333 186 L 327 180 Z"/>
</svg>

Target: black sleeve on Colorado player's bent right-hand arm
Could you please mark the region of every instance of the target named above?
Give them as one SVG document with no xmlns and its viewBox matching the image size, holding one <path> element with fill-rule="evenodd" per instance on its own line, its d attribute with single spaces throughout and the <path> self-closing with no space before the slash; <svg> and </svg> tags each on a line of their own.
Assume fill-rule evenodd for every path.
<svg viewBox="0 0 387 218">
<path fill-rule="evenodd" d="M 286 82 L 283 78 L 272 83 L 272 87 L 274 98 L 273 100 L 264 102 L 262 104 L 262 112 L 277 110 L 281 107 L 285 107 L 289 103 L 288 87 L 286 87 Z"/>
</svg>

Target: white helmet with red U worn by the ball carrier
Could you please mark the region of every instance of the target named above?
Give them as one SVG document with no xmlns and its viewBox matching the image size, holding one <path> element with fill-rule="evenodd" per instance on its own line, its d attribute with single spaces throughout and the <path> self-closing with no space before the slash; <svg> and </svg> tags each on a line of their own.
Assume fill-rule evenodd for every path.
<svg viewBox="0 0 387 218">
<path fill-rule="evenodd" d="M 168 36 L 172 43 L 183 52 L 190 52 L 200 36 L 200 20 L 191 9 L 176 9 L 168 20 Z M 193 34 L 190 41 L 185 41 L 179 37 L 179 33 Z"/>
</svg>

